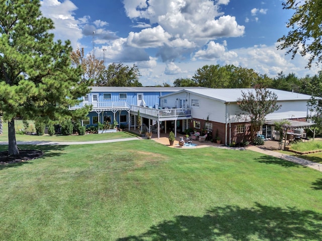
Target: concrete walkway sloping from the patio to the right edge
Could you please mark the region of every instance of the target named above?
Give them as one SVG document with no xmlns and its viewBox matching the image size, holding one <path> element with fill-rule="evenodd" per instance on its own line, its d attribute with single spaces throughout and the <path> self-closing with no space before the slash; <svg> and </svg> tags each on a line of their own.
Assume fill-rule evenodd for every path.
<svg viewBox="0 0 322 241">
<path fill-rule="evenodd" d="M 319 164 L 319 163 L 316 163 L 316 162 L 311 162 L 311 161 L 308 161 L 308 160 L 305 160 L 305 159 L 302 159 L 302 158 L 299 158 L 299 157 L 295 157 L 295 156 L 292 156 L 292 155 L 285 155 L 285 154 L 270 151 L 270 150 L 267 150 L 267 149 L 262 149 L 262 148 L 260 148 L 258 146 L 247 147 L 247 150 L 252 150 L 254 152 L 259 152 L 259 153 L 269 155 L 269 156 L 272 156 L 272 157 L 281 158 L 283 160 L 286 160 L 286 161 L 289 161 L 289 162 L 294 162 L 294 163 L 300 164 L 302 166 L 310 167 L 310 168 L 313 168 L 315 170 L 318 170 L 318 171 L 322 172 L 322 164 Z"/>
</svg>

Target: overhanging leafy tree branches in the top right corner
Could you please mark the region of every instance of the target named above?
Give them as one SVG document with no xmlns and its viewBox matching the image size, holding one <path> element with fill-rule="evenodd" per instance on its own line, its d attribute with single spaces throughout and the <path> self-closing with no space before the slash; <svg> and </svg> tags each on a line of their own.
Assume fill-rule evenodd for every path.
<svg viewBox="0 0 322 241">
<path fill-rule="evenodd" d="M 278 39 L 277 48 L 287 49 L 292 58 L 297 53 L 308 54 L 308 68 L 314 59 L 316 63 L 322 62 L 322 0 L 287 0 L 283 9 L 292 10 L 294 14 L 286 25 L 291 30 Z"/>
</svg>

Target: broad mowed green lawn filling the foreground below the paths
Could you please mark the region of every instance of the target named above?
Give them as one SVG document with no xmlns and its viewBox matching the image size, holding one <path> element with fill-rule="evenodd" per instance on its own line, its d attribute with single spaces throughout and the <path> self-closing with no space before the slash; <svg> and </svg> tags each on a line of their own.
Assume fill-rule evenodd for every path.
<svg viewBox="0 0 322 241">
<path fill-rule="evenodd" d="M 0 166 L 0 240 L 322 235 L 321 173 L 260 153 L 151 140 L 20 147 L 45 155 Z"/>
</svg>

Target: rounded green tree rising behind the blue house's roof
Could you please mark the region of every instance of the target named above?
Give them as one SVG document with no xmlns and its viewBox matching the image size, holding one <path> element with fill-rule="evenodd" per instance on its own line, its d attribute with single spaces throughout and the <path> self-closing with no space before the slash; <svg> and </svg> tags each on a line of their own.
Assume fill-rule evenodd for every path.
<svg viewBox="0 0 322 241">
<path fill-rule="evenodd" d="M 104 71 L 103 77 L 96 83 L 97 86 L 125 86 L 141 87 L 139 82 L 140 71 L 136 65 L 129 67 L 122 63 L 112 63 Z"/>
</svg>

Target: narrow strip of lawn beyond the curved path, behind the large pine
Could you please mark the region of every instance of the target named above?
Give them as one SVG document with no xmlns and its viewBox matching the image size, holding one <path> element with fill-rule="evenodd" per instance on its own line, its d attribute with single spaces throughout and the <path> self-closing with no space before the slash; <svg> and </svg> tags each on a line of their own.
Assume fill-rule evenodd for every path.
<svg viewBox="0 0 322 241">
<path fill-rule="evenodd" d="M 16 131 L 23 127 L 22 121 L 16 121 Z M 87 142 L 87 141 L 102 141 L 102 140 L 112 140 L 112 139 L 123 139 L 135 137 L 136 134 L 130 132 L 117 132 L 117 133 L 106 133 L 106 134 L 90 134 L 90 135 L 72 135 L 72 136 L 62 136 L 54 135 L 49 136 L 45 134 L 43 136 L 33 136 L 33 135 L 17 135 L 17 141 L 44 141 L 44 142 Z M 0 141 L 8 142 L 8 124 L 4 123 L 4 133 L 0 135 Z"/>
</svg>

